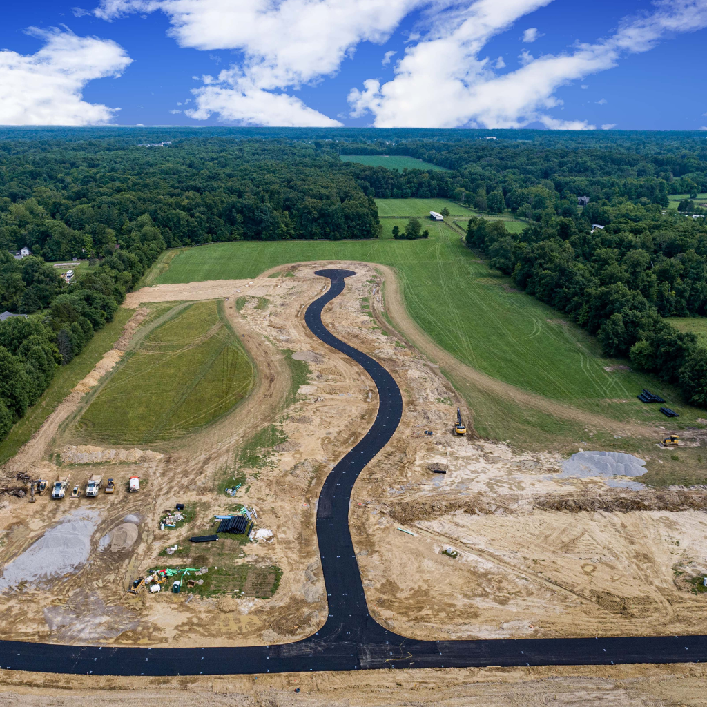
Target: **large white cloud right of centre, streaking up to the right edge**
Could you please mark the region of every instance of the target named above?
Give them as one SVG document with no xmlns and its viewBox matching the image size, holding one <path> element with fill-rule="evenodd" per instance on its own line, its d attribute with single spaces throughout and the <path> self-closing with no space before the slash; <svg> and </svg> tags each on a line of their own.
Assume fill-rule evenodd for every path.
<svg viewBox="0 0 707 707">
<path fill-rule="evenodd" d="M 376 127 L 517 128 L 539 121 L 546 127 L 592 129 L 583 120 L 559 121 L 547 110 L 561 101 L 556 90 L 597 71 L 616 66 L 624 54 L 645 52 L 666 35 L 707 26 L 707 0 L 660 0 L 653 12 L 627 18 L 614 35 L 571 52 L 534 58 L 493 74 L 479 53 L 494 35 L 539 6 L 532 0 L 477 0 L 457 13 L 457 23 L 438 23 L 428 37 L 409 47 L 395 67 L 395 78 L 375 78 L 349 93 L 351 114 L 373 115 Z M 435 100 L 429 100 L 430 96 Z"/>
</svg>

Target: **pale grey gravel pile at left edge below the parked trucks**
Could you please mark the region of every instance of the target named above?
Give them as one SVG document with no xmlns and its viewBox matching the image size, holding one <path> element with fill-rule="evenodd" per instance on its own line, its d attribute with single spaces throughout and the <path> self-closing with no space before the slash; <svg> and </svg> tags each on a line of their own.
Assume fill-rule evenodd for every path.
<svg viewBox="0 0 707 707">
<path fill-rule="evenodd" d="M 90 537 L 98 525 L 98 511 L 74 510 L 45 532 L 23 554 L 6 564 L 0 592 L 20 585 L 35 588 L 76 571 L 90 554 Z"/>
</svg>

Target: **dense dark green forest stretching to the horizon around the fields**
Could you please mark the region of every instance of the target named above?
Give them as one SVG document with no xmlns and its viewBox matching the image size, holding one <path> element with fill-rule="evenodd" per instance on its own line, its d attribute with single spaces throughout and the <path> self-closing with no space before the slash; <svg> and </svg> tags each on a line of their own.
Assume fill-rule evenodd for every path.
<svg viewBox="0 0 707 707">
<path fill-rule="evenodd" d="M 450 171 L 341 154 L 411 156 Z M 707 351 L 666 320 L 707 315 L 707 209 L 697 198 L 706 191 L 699 133 L 1 130 L 0 312 L 28 317 L 0 324 L 0 438 L 165 247 L 377 238 L 374 199 L 387 197 L 446 197 L 524 218 L 520 234 L 474 218 L 467 243 L 597 334 L 607 354 L 630 356 L 707 406 Z M 686 197 L 678 211 L 670 194 Z M 420 231 L 414 220 L 395 235 Z M 33 256 L 8 252 L 21 247 Z M 92 267 L 67 284 L 46 261 L 72 257 Z"/>
</svg>

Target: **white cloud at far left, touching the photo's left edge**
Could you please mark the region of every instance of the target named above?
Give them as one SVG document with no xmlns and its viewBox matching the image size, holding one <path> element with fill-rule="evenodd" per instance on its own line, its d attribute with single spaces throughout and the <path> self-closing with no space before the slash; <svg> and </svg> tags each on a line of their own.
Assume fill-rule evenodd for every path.
<svg viewBox="0 0 707 707">
<path fill-rule="evenodd" d="M 36 54 L 0 50 L 0 124 L 95 125 L 119 109 L 82 100 L 89 81 L 119 76 L 132 62 L 122 47 L 70 30 L 28 33 L 44 40 Z"/>
</svg>

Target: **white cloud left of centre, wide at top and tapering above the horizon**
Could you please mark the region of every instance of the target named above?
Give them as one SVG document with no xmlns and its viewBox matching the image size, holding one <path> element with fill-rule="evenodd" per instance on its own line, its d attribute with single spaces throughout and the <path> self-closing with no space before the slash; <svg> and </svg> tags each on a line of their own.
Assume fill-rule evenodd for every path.
<svg viewBox="0 0 707 707">
<path fill-rule="evenodd" d="M 443 4 L 452 0 L 442 0 Z M 110 20 L 163 11 L 181 47 L 235 49 L 243 60 L 194 93 L 191 117 L 244 124 L 341 125 L 284 93 L 336 73 L 361 42 L 382 44 L 422 0 L 103 0 Z M 265 121 L 265 122 L 263 122 Z"/>
</svg>

